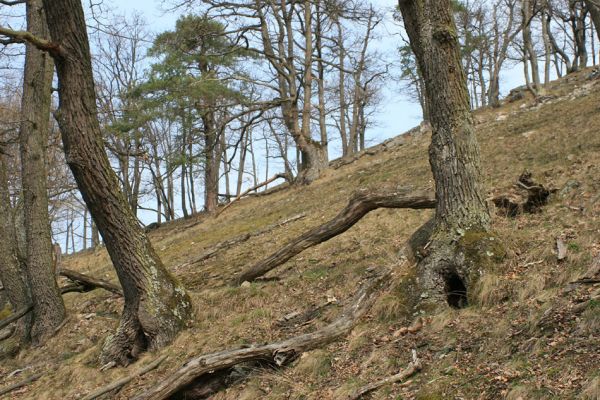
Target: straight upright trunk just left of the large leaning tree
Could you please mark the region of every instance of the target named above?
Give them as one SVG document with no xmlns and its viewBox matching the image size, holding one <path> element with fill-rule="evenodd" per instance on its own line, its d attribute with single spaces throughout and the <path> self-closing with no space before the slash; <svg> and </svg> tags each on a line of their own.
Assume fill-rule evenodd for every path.
<svg viewBox="0 0 600 400">
<path fill-rule="evenodd" d="M 48 37 L 41 0 L 27 2 L 27 29 L 36 36 Z M 33 301 L 33 345 L 40 345 L 54 335 L 54 331 L 66 317 L 65 305 L 53 273 L 46 184 L 46 146 L 53 73 L 50 55 L 28 44 L 19 144 L 27 243 L 25 270 Z"/>
</svg>

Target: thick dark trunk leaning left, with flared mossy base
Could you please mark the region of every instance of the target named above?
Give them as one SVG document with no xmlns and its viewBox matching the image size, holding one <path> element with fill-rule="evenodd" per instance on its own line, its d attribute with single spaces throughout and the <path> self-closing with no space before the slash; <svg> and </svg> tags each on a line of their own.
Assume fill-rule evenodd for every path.
<svg viewBox="0 0 600 400">
<path fill-rule="evenodd" d="M 182 330 L 192 304 L 155 253 L 118 188 L 102 141 L 85 17 L 80 0 L 44 0 L 59 80 L 60 124 L 66 159 L 123 288 L 125 307 L 101 361 L 128 364 Z M 53 47 L 53 48 L 52 48 Z"/>
</svg>

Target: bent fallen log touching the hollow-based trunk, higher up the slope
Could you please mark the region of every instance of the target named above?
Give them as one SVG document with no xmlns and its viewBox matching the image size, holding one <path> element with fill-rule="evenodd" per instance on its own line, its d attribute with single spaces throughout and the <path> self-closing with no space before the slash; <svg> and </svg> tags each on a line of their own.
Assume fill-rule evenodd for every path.
<svg viewBox="0 0 600 400">
<path fill-rule="evenodd" d="M 346 232 L 362 217 L 378 208 L 435 208 L 435 197 L 433 193 L 411 193 L 407 189 L 359 190 L 351 197 L 348 205 L 332 220 L 305 232 L 267 258 L 247 268 L 237 277 L 235 283 L 239 285 L 244 281 L 253 281 L 263 276 L 304 250 Z"/>
</svg>

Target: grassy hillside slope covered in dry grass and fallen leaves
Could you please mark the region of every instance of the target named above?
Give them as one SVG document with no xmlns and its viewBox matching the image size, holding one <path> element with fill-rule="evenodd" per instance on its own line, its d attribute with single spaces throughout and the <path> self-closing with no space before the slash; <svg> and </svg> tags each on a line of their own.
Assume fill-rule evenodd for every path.
<svg viewBox="0 0 600 400">
<path fill-rule="evenodd" d="M 34 373 L 14 399 L 77 399 L 127 376 L 161 355 L 155 370 L 105 398 L 128 399 L 161 381 L 188 358 L 243 344 L 267 343 L 331 322 L 368 270 L 393 267 L 391 287 L 346 337 L 303 354 L 289 367 L 257 369 L 213 399 L 343 399 L 353 390 L 405 368 L 416 349 L 423 370 L 408 382 L 382 387 L 373 399 L 599 399 L 600 285 L 569 285 L 600 253 L 600 79 L 585 70 L 553 82 L 544 101 L 531 97 L 475 112 L 489 196 L 513 187 L 524 170 L 558 191 L 536 214 L 495 213 L 493 228 L 508 257 L 488 274 L 463 309 L 414 320 L 401 290 L 407 263 L 400 253 L 431 211 L 380 209 L 346 233 L 315 246 L 242 287 L 229 282 L 243 268 L 337 214 L 351 194 L 383 185 L 433 188 L 427 159 L 430 135 L 400 136 L 380 152 L 331 169 L 308 187 L 245 198 L 218 218 L 199 215 L 150 233 L 155 248 L 191 292 L 193 325 L 167 348 L 128 368 L 100 372 L 98 354 L 115 330 L 122 300 L 103 290 L 65 295 L 69 320 L 41 348 L 0 364 L 0 388 Z M 193 262 L 212 245 L 288 218 L 304 218 Z M 557 259 L 556 241 L 567 247 Z M 64 260 L 67 268 L 116 281 L 104 249 Z M 277 321 L 326 304 L 301 326 Z M 23 370 L 18 373 L 11 373 Z"/>
</svg>

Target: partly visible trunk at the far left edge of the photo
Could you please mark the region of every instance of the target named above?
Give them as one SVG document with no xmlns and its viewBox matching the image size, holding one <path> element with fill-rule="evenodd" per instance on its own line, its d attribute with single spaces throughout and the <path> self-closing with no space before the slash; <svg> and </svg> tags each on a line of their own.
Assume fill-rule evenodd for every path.
<svg viewBox="0 0 600 400">
<path fill-rule="evenodd" d="M 10 207 L 8 177 L 4 157 L 0 152 L 0 280 L 6 291 L 13 311 L 23 309 L 30 304 L 28 288 L 23 280 L 19 258 L 17 256 L 16 231 Z M 4 304 L 0 303 L 0 308 Z M 13 335 L 20 341 L 29 339 L 30 321 L 22 318 Z"/>
</svg>

